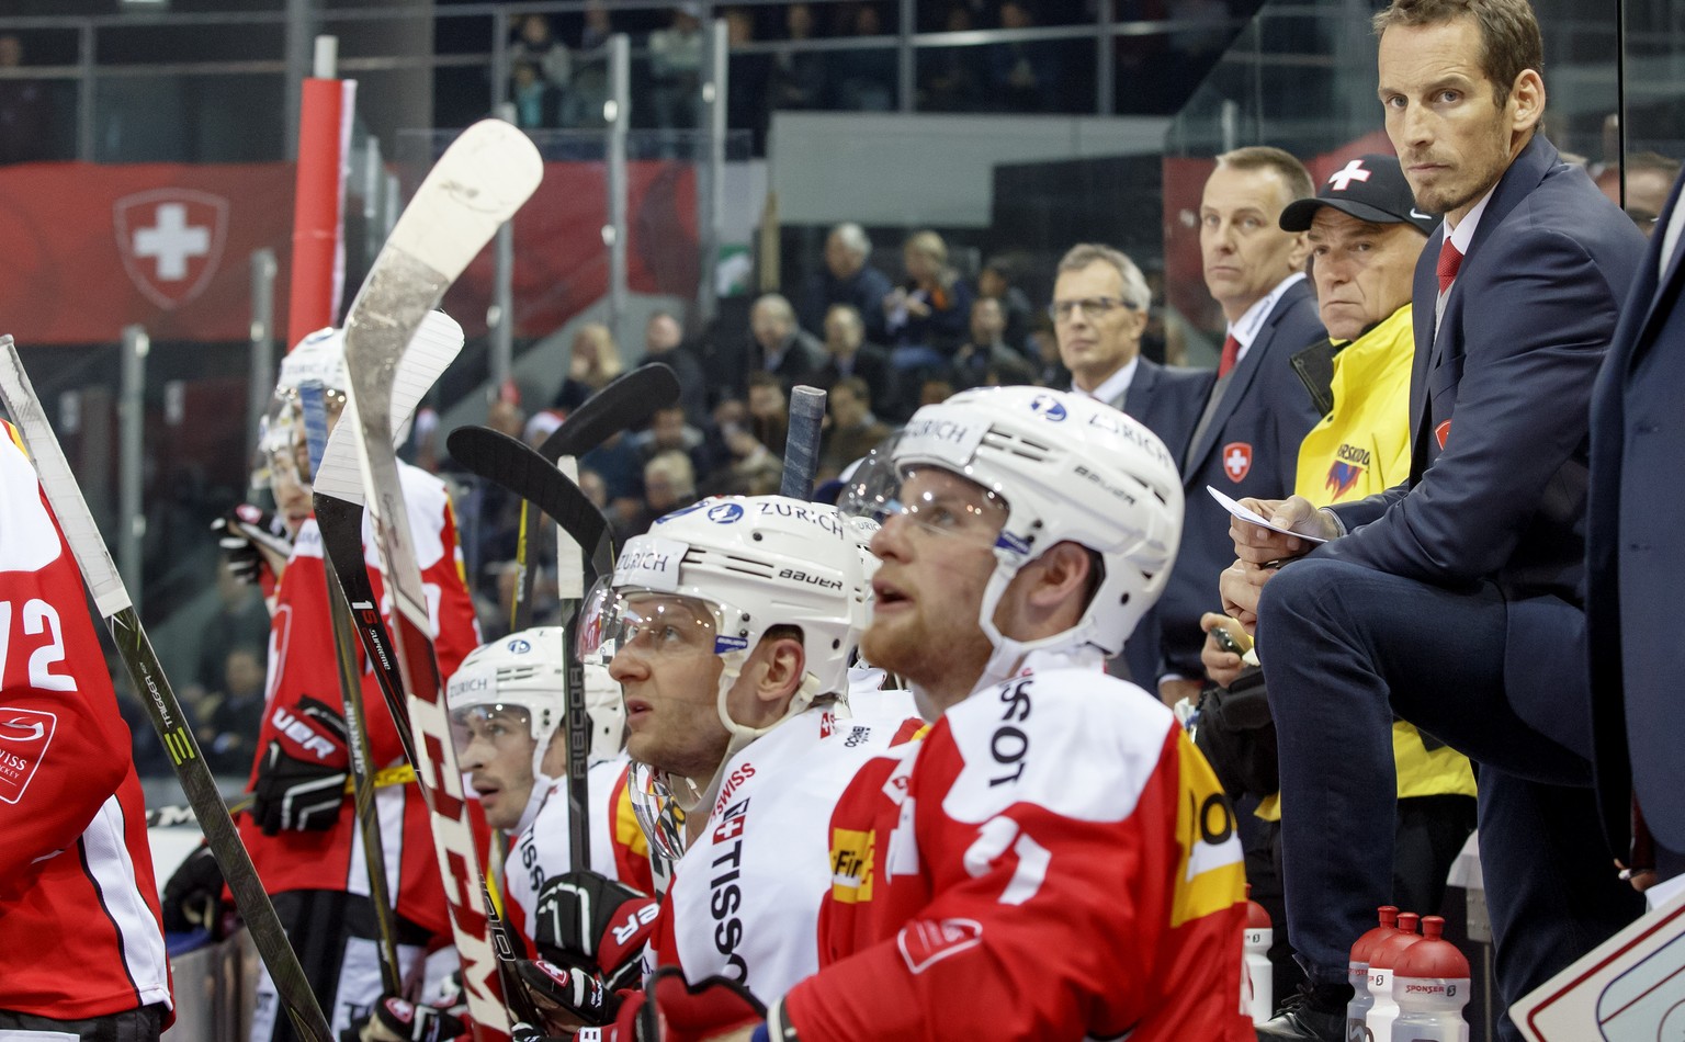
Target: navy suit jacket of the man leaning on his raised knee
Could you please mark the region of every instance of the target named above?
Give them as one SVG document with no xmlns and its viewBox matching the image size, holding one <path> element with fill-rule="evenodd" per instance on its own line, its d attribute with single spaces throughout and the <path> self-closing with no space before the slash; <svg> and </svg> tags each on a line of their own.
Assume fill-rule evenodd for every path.
<svg viewBox="0 0 1685 1042">
<path fill-rule="evenodd" d="M 1410 479 L 1333 508 L 1351 534 L 1316 553 L 1437 587 L 1496 583 L 1515 710 L 1589 782 L 1587 418 L 1643 236 L 1535 133 L 1486 202 L 1436 339 L 1442 241 L 1444 226 L 1415 266 Z"/>
</svg>

